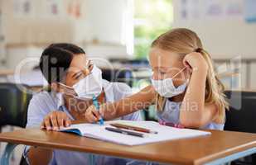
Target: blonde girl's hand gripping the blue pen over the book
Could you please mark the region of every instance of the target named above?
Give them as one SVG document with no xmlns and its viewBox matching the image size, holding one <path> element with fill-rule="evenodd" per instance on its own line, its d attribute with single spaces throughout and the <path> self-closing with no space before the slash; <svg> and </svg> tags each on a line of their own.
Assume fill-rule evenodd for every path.
<svg viewBox="0 0 256 165">
<path fill-rule="evenodd" d="M 101 119 L 100 112 L 96 109 L 94 105 L 89 106 L 85 111 L 85 120 L 89 123 L 97 122 Z"/>
</svg>

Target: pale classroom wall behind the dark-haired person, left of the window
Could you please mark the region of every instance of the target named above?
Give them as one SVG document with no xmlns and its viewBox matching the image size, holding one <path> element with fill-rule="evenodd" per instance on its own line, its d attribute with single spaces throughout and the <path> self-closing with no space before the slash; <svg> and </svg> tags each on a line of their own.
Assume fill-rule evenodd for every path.
<svg viewBox="0 0 256 165">
<path fill-rule="evenodd" d="M 133 8 L 130 0 L 20 0 L 30 2 L 31 12 L 27 14 L 17 11 L 20 3 L 15 0 L 0 1 L 4 13 L 7 68 L 15 68 L 27 57 L 39 57 L 46 45 L 55 42 L 80 45 L 90 56 L 104 59 L 128 58 L 128 54 L 133 53 Z M 49 9 L 51 2 L 58 5 L 56 15 Z M 70 14 L 72 2 L 80 2 L 79 17 Z M 33 52 L 33 55 L 26 52 Z"/>
</svg>

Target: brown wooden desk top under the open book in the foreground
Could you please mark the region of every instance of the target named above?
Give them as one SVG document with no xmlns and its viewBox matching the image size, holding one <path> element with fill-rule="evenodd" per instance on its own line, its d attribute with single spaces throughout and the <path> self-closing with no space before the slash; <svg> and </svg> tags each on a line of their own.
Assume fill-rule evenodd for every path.
<svg viewBox="0 0 256 165">
<path fill-rule="evenodd" d="M 157 144 L 124 146 L 75 134 L 46 130 L 17 130 L 0 134 L 1 142 L 99 153 L 160 163 L 204 164 L 217 158 L 256 147 L 256 134 L 210 130 L 208 136 Z"/>
</svg>

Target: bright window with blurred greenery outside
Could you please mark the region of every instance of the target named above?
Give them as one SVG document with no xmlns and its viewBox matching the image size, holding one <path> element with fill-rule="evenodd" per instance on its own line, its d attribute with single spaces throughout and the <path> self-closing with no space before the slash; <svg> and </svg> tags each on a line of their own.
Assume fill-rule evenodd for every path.
<svg viewBox="0 0 256 165">
<path fill-rule="evenodd" d="M 171 0 L 134 0 L 134 54 L 146 59 L 152 40 L 171 29 Z"/>
</svg>

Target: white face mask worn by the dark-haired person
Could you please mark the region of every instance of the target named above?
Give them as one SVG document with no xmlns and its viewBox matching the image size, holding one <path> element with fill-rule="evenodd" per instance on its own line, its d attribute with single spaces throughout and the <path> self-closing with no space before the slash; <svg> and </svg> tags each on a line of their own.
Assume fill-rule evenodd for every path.
<svg viewBox="0 0 256 165">
<path fill-rule="evenodd" d="M 94 65 L 91 73 L 73 86 L 78 97 L 92 99 L 102 92 L 102 72 Z"/>
</svg>

